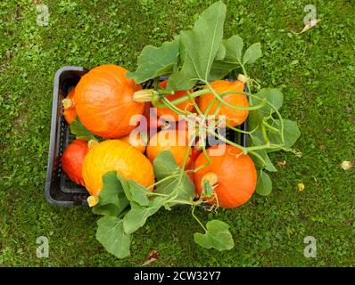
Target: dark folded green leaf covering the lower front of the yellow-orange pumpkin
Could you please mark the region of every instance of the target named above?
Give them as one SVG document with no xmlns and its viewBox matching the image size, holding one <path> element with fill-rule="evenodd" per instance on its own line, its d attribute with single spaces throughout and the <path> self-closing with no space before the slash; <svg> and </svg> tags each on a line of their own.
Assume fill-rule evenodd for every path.
<svg viewBox="0 0 355 285">
<path fill-rule="evenodd" d="M 103 190 L 99 193 L 99 203 L 92 208 L 98 215 L 118 216 L 129 205 L 116 171 L 103 175 Z"/>
</svg>

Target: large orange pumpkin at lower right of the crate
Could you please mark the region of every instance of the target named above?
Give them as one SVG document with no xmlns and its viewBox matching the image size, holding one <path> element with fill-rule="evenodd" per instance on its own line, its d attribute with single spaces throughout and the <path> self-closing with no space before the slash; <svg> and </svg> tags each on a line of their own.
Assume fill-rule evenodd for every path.
<svg viewBox="0 0 355 285">
<path fill-rule="evenodd" d="M 219 146 L 212 146 L 207 150 L 211 159 L 211 165 L 203 167 L 194 173 L 194 184 L 199 195 L 202 193 L 202 177 L 208 173 L 217 175 L 218 185 L 214 192 L 219 199 L 222 208 L 235 208 L 243 205 L 252 197 L 257 183 L 257 172 L 248 155 L 241 154 L 241 150 L 235 146 L 226 145 L 226 151 L 219 156 L 211 156 L 212 151 L 218 150 Z M 219 150 L 220 151 L 220 150 Z M 195 161 L 194 167 L 201 167 L 207 163 L 203 153 Z M 215 200 L 209 203 L 216 204 Z"/>
</svg>

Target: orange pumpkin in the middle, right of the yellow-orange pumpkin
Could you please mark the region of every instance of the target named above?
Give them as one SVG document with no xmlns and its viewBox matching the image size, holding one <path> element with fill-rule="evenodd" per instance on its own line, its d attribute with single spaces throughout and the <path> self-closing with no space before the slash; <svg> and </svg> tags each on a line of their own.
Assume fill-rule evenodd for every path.
<svg viewBox="0 0 355 285">
<path fill-rule="evenodd" d="M 187 132 L 177 131 L 175 129 L 161 130 L 157 134 L 154 134 L 149 140 L 146 154 L 149 160 L 153 163 L 154 159 L 161 151 L 170 151 L 172 157 L 177 162 L 179 167 L 182 166 L 185 159 L 185 154 L 188 146 Z M 186 166 L 189 165 L 192 156 L 190 149 L 188 158 L 186 160 Z"/>
</svg>

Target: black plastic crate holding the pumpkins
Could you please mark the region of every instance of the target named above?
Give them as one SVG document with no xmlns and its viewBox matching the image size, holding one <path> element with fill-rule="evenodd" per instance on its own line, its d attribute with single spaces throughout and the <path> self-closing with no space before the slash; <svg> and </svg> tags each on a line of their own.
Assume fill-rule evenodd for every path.
<svg viewBox="0 0 355 285">
<path fill-rule="evenodd" d="M 45 180 L 45 198 L 56 206 L 87 205 L 88 193 L 85 187 L 73 183 L 62 172 L 61 157 L 67 145 L 75 139 L 70 134 L 70 126 L 64 119 L 62 100 L 71 88 L 78 84 L 80 77 L 87 73 L 83 67 L 68 66 L 59 69 L 54 76 L 54 96 L 52 105 L 51 138 Z M 153 81 L 147 81 L 143 88 L 151 88 Z M 247 121 L 240 126 L 247 129 Z M 227 138 L 243 146 L 247 145 L 247 135 L 229 130 Z"/>
</svg>

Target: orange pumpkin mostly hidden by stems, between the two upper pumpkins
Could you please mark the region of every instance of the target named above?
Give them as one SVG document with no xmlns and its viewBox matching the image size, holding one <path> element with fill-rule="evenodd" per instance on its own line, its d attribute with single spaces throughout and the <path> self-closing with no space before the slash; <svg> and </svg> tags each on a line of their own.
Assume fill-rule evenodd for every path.
<svg viewBox="0 0 355 285">
<path fill-rule="evenodd" d="M 165 88 L 167 86 L 167 84 L 168 84 L 168 79 L 161 81 L 161 83 L 159 85 L 161 86 L 161 88 Z M 174 101 L 180 97 L 186 96 L 186 94 L 187 94 L 186 91 L 176 91 L 175 94 L 165 95 L 165 97 L 169 101 Z M 181 103 L 177 104 L 176 106 L 178 109 L 181 109 L 181 110 L 188 110 L 188 111 L 194 110 L 194 105 L 192 102 L 190 102 L 190 100 L 186 100 L 185 102 L 181 102 Z M 158 108 L 157 113 L 161 119 L 166 120 L 166 121 L 176 122 L 179 120 L 178 114 L 175 111 L 170 110 L 168 107 L 167 108 Z"/>
</svg>

